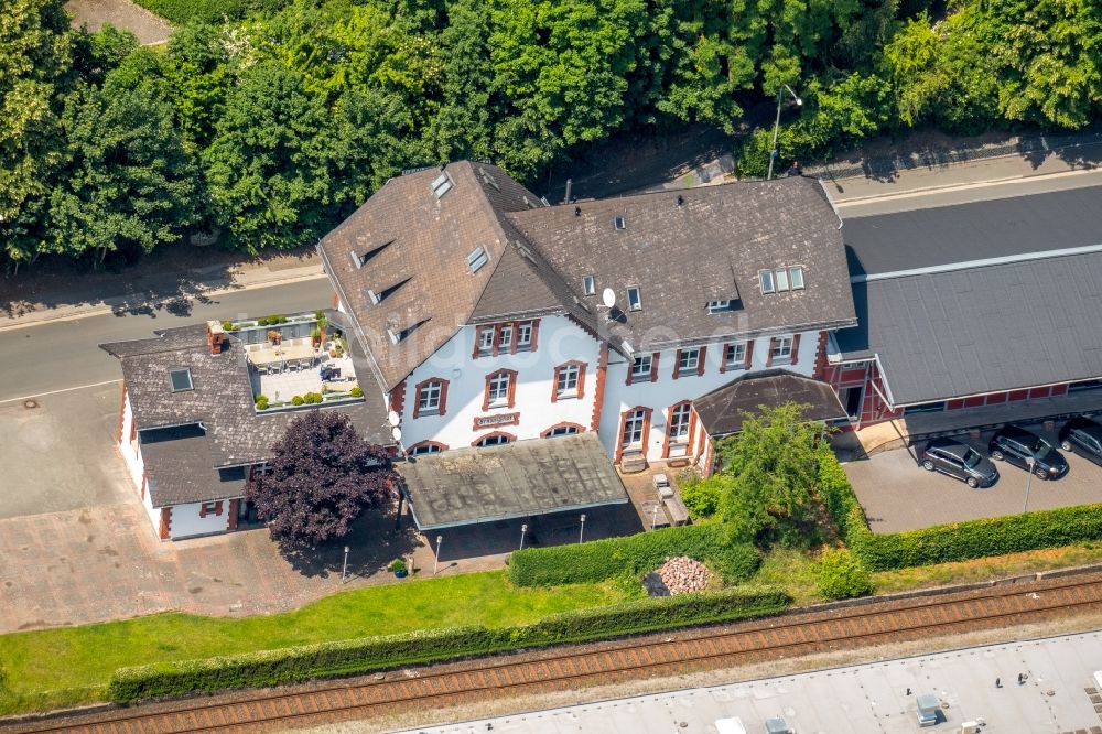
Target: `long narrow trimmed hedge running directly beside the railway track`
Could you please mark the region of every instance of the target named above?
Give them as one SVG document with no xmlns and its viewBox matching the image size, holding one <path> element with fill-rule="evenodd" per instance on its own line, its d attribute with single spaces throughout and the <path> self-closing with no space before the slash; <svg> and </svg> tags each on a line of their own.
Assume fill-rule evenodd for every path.
<svg viewBox="0 0 1102 734">
<path fill-rule="evenodd" d="M 408 665 L 500 652 L 554 643 L 685 627 L 778 614 L 791 603 L 781 591 L 730 590 L 642 598 L 626 604 L 555 614 L 525 626 L 453 627 L 321 643 L 279 650 L 120 668 L 108 697 L 126 704 L 142 699 L 227 688 L 279 686 Z"/>
</svg>

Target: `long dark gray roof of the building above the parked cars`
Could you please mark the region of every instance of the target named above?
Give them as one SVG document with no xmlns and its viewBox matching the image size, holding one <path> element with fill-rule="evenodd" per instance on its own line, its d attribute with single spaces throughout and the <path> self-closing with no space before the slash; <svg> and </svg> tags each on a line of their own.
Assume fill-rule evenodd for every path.
<svg viewBox="0 0 1102 734">
<path fill-rule="evenodd" d="M 846 222 L 858 325 L 895 406 L 1102 376 L 1102 187 Z"/>
</svg>

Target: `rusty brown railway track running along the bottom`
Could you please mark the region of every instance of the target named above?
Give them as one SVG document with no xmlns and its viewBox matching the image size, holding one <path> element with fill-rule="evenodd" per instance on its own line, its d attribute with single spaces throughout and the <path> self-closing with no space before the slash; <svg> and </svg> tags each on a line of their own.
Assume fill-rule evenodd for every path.
<svg viewBox="0 0 1102 734">
<path fill-rule="evenodd" d="M 17 726 L 30 733 L 184 734 L 272 731 L 361 719 L 489 695 L 574 689 L 657 673 L 790 658 L 841 647 L 914 640 L 1070 616 L 1102 605 L 1102 576 L 1073 576 L 979 592 L 882 602 L 677 634 L 329 681 L 118 709 Z"/>
</svg>

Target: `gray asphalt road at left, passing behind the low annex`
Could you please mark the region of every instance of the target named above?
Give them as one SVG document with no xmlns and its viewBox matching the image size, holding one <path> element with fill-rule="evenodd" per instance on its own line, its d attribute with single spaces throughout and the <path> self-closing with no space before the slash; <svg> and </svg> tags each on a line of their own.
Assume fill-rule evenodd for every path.
<svg viewBox="0 0 1102 734">
<path fill-rule="evenodd" d="M 171 313 L 104 314 L 0 331 L 0 402 L 121 379 L 119 360 L 99 348 L 102 342 L 208 320 L 314 311 L 332 302 L 333 287 L 318 279 L 214 295 Z"/>
</svg>

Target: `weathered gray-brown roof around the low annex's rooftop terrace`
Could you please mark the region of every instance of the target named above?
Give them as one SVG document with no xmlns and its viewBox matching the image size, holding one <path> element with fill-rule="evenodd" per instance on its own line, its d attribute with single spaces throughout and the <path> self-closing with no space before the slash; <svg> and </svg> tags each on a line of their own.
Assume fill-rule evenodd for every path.
<svg viewBox="0 0 1102 734">
<path fill-rule="evenodd" d="M 209 497 L 205 482 L 181 483 L 166 478 L 169 469 L 185 458 L 192 464 L 197 456 L 207 456 L 207 473 L 194 472 L 196 476 L 210 477 L 219 466 L 255 464 L 270 457 L 270 449 L 282 436 L 287 424 L 295 415 L 294 411 L 257 413 L 252 402 L 252 387 L 249 382 L 245 350 L 235 338 L 227 339 L 220 354 L 210 354 L 206 344 L 205 326 L 198 328 L 166 330 L 155 338 L 136 339 L 100 345 L 105 350 L 120 356 L 122 375 L 127 382 L 130 406 L 133 409 L 138 429 L 164 429 L 202 423 L 206 429 L 203 446 L 196 441 L 191 444 L 168 442 L 154 449 L 153 456 L 145 461 L 151 471 L 161 477 L 162 486 L 192 487 L 171 492 L 172 501 L 201 501 L 217 499 Z M 352 345 L 349 345 L 352 346 Z M 371 378 L 358 349 L 352 352 L 357 368 L 357 381 L 364 390 L 364 401 L 326 408 L 339 410 L 352 418 L 353 423 L 367 441 L 388 445 L 393 443 L 387 423 L 387 407 L 382 390 Z M 193 389 L 173 392 L 169 384 L 169 373 L 187 368 L 192 375 Z M 168 456 L 179 447 L 179 457 L 166 460 L 165 466 L 156 466 L 158 456 Z"/>
</svg>

